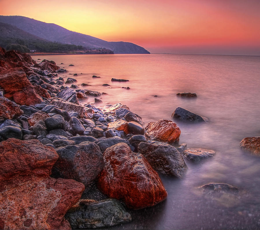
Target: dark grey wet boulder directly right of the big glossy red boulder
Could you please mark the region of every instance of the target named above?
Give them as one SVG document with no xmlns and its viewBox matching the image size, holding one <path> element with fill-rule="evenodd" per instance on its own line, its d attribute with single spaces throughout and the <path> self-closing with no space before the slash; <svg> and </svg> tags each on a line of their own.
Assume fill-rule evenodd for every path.
<svg viewBox="0 0 260 230">
<path fill-rule="evenodd" d="M 187 170 L 183 156 L 172 145 L 160 142 L 140 142 L 138 152 L 144 155 L 157 172 L 164 175 L 181 178 Z"/>
</svg>

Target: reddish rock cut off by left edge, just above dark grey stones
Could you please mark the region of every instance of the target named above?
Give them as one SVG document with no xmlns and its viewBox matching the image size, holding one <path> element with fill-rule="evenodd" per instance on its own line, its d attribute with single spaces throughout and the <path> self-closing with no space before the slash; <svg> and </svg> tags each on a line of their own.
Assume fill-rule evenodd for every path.
<svg viewBox="0 0 260 230">
<path fill-rule="evenodd" d="M 0 118 L 12 119 L 23 114 L 20 106 L 5 97 L 0 97 Z"/>
</svg>

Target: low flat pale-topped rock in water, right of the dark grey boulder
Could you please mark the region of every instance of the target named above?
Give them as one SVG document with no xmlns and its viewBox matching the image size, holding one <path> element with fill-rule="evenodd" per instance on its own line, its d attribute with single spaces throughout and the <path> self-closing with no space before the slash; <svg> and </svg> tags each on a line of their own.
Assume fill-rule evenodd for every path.
<svg viewBox="0 0 260 230">
<path fill-rule="evenodd" d="M 214 156 L 215 152 L 213 150 L 194 148 L 194 149 L 186 149 L 183 152 L 183 154 L 187 159 L 192 160 L 194 162 L 198 162 L 203 159 Z"/>
</svg>

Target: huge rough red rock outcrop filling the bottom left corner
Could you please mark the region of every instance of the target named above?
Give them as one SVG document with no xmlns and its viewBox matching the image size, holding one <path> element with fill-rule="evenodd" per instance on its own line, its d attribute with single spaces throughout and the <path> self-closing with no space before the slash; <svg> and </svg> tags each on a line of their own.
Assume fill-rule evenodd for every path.
<svg viewBox="0 0 260 230">
<path fill-rule="evenodd" d="M 70 229 L 64 215 L 81 197 L 83 184 L 49 177 L 58 158 L 38 140 L 0 143 L 1 229 Z M 15 149 L 15 151 L 14 151 Z"/>
</svg>

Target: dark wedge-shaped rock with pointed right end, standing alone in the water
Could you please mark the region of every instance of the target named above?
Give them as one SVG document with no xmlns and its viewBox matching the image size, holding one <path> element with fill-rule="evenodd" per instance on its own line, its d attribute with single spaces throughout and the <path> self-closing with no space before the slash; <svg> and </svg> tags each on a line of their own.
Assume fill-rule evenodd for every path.
<svg viewBox="0 0 260 230">
<path fill-rule="evenodd" d="M 206 122 L 208 119 L 206 117 L 202 117 L 196 113 L 192 113 L 187 109 L 183 109 L 181 107 L 177 107 L 171 115 L 172 118 L 179 119 L 181 121 L 192 121 L 192 122 Z"/>
</svg>

